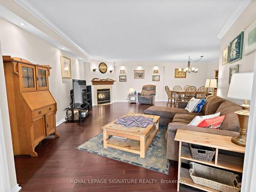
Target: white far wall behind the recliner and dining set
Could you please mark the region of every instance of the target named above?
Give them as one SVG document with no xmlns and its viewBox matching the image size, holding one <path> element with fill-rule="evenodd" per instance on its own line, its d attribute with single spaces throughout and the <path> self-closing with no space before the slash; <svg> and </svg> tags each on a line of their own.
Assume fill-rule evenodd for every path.
<svg viewBox="0 0 256 192">
<path fill-rule="evenodd" d="M 191 62 L 192 67 L 198 68 L 198 73 L 187 73 L 186 78 L 174 78 L 175 68 L 184 68 L 187 62 L 146 62 L 146 61 L 122 61 L 115 62 L 115 101 L 124 101 L 129 93 L 129 88 L 134 88 L 137 92 L 141 92 L 144 84 L 156 84 L 157 94 L 156 100 L 166 101 L 167 95 L 164 87 L 168 86 L 172 89 L 175 85 L 182 88 L 186 85 L 195 86 L 197 88 L 204 86 L 206 78 L 213 78 L 218 62 Z M 134 70 L 145 70 L 145 79 L 134 79 Z M 154 69 L 159 69 L 160 81 L 152 81 Z M 120 70 L 126 72 L 126 82 L 119 82 Z"/>
</svg>

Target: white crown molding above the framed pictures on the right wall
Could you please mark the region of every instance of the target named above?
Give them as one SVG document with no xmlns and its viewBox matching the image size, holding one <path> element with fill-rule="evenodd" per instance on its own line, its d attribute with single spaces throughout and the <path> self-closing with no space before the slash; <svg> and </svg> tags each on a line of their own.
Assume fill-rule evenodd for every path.
<svg viewBox="0 0 256 192">
<path fill-rule="evenodd" d="M 236 22 L 237 18 L 241 15 L 241 13 L 244 11 L 244 9 L 248 6 L 248 4 L 251 2 L 251 0 L 242 0 L 237 9 L 233 12 L 231 17 L 228 19 L 227 23 L 217 36 L 219 39 L 221 39 L 227 31 L 230 29 L 230 27 L 233 25 L 234 22 Z"/>
</svg>

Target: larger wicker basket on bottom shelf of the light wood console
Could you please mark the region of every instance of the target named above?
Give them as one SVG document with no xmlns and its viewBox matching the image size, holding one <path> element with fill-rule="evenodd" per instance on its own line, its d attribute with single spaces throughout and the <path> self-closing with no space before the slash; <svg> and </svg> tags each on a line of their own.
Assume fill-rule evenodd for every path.
<svg viewBox="0 0 256 192">
<path fill-rule="evenodd" d="M 241 182 L 238 175 L 226 170 L 190 162 L 189 174 L 194 183 L 223 192 L 239 192 Z"/>
</svg>

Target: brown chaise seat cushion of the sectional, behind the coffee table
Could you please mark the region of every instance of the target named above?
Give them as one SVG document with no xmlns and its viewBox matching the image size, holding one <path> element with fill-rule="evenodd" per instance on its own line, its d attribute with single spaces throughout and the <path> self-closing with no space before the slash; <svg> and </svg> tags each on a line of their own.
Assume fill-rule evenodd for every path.
<svg viewBox="0 0 256 192">
<path fill-rule="evenodd" d="M 151 106 L 144 111 L 145 114 L 159 115 L 161 118 L 173 119 L 176 114 L 203 115 L 202 113 L 189 113 L 185 109 L 167 108 L 166 106 Z"/>
</svg>

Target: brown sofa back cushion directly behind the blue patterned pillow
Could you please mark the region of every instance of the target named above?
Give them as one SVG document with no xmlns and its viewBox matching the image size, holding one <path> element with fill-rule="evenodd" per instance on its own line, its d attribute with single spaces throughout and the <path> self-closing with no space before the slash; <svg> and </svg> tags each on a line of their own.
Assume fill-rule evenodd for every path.
<svg viewBox="0 0 256 192">
<path fill-rule="evenodd" d="M 213 96 L 207 99 L 203 109 L 204 115 L 215 114 L 221 103 L 224 101 L 226 100 L 218 96 Z"/>
</svg>

